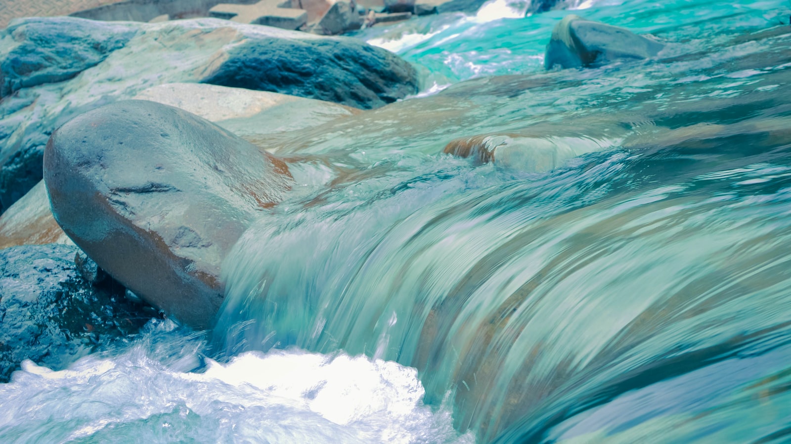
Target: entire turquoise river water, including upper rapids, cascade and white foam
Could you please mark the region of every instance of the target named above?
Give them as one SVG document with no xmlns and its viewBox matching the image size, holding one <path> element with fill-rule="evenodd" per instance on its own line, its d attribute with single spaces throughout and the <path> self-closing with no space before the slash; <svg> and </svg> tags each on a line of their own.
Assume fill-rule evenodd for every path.
<svg viewBox="0 0 791 444">
<path fill-rule="evenodd" d="M 0 441 L 791 439 L 791 3 L 569 6 L 667 47 L 546 72 L 568 11 L 501 0 L 358 32 L 422 92 L 261 140 L 297 186 L 214 334 L 28 363 Z"/>
</svg>

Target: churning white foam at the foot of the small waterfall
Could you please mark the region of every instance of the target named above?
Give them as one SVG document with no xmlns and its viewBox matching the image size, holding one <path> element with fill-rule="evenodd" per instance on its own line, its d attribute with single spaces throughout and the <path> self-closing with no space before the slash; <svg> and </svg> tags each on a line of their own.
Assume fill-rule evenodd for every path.
<svg viewBox="0 0 791 444">
<path fill-rule="evenodd" d="M 423 404 L 411 367 L 294 348 L 206 359 L 195 373 L 169 365 L 198 362 L 195 347 L 179 347 L 167 362 L 152 344 L 63 371 L 26 362 L 0 384 L 0 442 L 474 441 L 453 430 L 448 409 Z"/>
</svg>

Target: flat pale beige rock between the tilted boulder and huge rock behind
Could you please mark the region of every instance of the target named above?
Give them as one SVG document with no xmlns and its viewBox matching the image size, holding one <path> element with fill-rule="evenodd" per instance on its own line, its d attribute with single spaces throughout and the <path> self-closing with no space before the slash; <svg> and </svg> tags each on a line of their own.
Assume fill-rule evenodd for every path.
<svg viewBox="0 0 791 444">
<path fill-rule="evenodd" d="M 319 126 L 361 112 L 323 100 L 198 83 L 154 86 L 134 99 L 181 108 L 248 141 L 266 134 Z"/>
</svg>

